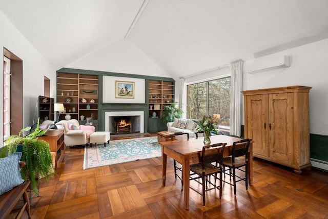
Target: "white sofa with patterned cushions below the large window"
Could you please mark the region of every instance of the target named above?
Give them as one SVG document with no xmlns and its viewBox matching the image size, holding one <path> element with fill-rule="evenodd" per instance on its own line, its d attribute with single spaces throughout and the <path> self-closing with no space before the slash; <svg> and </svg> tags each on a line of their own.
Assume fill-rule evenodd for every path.
<svg viewBox="0 0 328 219">
<path fill-rule="evenodd" d="M 174 122 L 167 123 L 167 127 L 168 132 L 171 134 L 182 132 L 188 133 L 190 138 L 196 137 L 195 132 L 197 132 L 197 124 L 189 118 L 176 118 Z"/>
</svg>

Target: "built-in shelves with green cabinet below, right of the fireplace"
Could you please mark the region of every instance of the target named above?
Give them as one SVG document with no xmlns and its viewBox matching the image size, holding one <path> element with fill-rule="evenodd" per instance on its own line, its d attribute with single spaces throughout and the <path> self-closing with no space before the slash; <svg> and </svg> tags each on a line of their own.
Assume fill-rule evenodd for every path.
<svg viewBox="0 0 328 219">
<path fill-rule="evenodd" d="M 149 131 L 167 130 L 160 116 L 163 106 L 174 103 L 174 82 L 148 80 L 148 107 L 149 107 Z M 153 113 L 156 113 L 154 116 Z"/>
</svg>

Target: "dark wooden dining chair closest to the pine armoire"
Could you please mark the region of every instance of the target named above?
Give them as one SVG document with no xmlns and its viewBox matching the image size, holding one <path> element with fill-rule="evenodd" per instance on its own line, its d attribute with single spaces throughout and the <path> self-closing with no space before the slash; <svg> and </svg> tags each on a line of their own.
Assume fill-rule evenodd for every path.
<svg viewBox="0 0 328 219">
<path fill-rule="evenodd" d="M 224 183 L 228 183 L 234 187 L 234 193 L 236 195 L 236 183 L 239 181 L 245 181 L 246 190 L 248 189 L 248 164 L 249 164 L 249 147 L 251 144 L 251 139 L 246 138 L 240 140 L 238 142 L 234 142 L 232 146 L 232 155 L 228 157 L 223 157 L 222 165 L 224 178 L 226 178 L 226 174 L 230 176 L 230 182 L 224 181 Z M 228 169 L 226 170 L 226 167 Z M 242 167 L 245 167 L 244 169 Z M 245 173 L 245 176 L 236 175 L 236 169 Z M 229 170 L 229 173 L 226 171 Z M 231 183 L 231 176 L 233 177 L 233 183 Z M 237 177 L 237 180 L 236 180 Z"/>
</svg>

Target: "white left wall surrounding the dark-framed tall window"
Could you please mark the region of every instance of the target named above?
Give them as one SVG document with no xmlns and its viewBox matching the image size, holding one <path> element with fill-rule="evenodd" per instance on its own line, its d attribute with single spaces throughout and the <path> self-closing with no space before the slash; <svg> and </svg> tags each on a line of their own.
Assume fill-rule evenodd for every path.
<svg viewBox="0 0 328 219">
<path fill-rule="evenodd" d="M 3 57 L 3 48 L 6 48 L 23 60 L 23 128 L 31 126 L 37 96 L 44 95 L 44 76 L 50 79 L 50 96 L 54 97 L 55 95 L 56 70 L 16 29 L 2 11 L 0 11 L 0 36 L 0 56 Z M 3 73 L 3 62 L 1 65 Z M 0 77 L 0 83 L 3 85 L 3 76 Z M 3 96 L 3 89 L 0 89 L 0 95 Z M 14 96 L 12 98 L 15 99 Z M 3 111 L 2 101 L 0 108 Z M 0 123 L 3 124 L 3 114 L 0 117 Z M 0 135 L 0 144 L 3 144 L 2 135 Z"/>
</svg>

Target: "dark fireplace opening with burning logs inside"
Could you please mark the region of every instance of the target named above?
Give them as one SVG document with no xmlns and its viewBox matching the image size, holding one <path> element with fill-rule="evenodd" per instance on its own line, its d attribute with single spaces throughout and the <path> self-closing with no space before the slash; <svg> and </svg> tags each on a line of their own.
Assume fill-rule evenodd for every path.
<svg viewBox="0 0 328 219">
<path fill-rule="evenodd" d="M 140 132 L 140 116 L 109 116 L 111 134 L 130 134 Z"/>
</svg>

